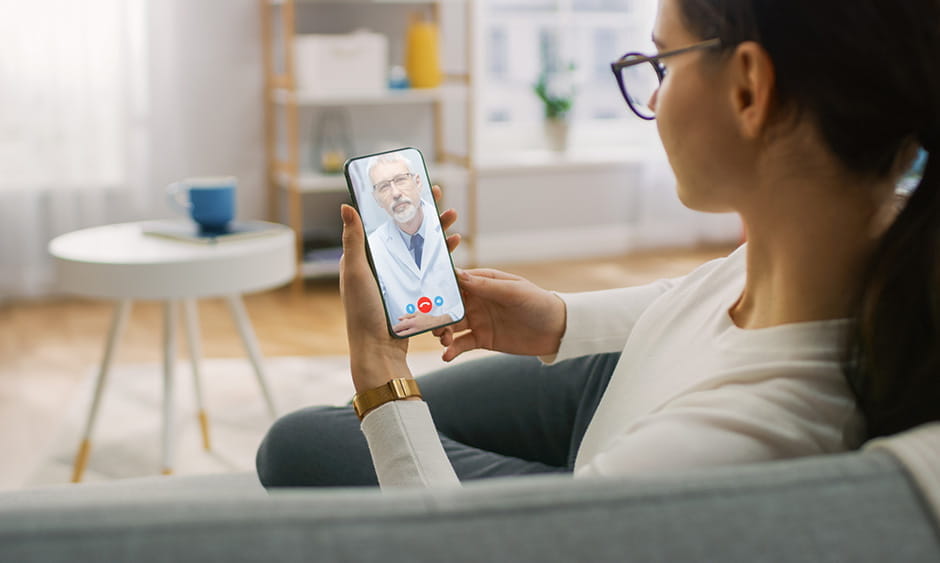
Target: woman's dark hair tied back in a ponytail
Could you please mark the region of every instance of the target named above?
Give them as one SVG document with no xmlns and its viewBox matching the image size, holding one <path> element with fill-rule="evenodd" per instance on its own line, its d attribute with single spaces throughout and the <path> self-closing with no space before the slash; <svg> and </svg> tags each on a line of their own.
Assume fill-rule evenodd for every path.
<svg viewBox="0 0 940 563">
<path fill-rule="evenodd" d="M 912 146 L 927 150 L 862 280 L 846 377 L 869 438 L 940 420 L 940 0 L 678 5 L 702 39 L 760 43 L 776 69 L 776 107 L 814 119 L 849 170 L 891 178 Z"/>
</svg>

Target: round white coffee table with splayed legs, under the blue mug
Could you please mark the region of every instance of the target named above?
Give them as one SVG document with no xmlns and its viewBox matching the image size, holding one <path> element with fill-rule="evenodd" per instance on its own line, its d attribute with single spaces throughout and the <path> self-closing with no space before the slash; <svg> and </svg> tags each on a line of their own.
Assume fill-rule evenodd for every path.
<svg viewBox="0 0 940 563">
<path fill-rule="evenodd" d="M 135 300 L 160 300 L 163 306 L 163 473 L 173 468 L 173 366 L 176 360 L 178 305 L 182 303 L 184 328 L 189 345 L 196 402 L 202 426 L 203 445 L 209 449 L 208 418 L 202 401 L 199 377 L 199 329 L 195 300 L 223 297 L 235 319 L 261 392 L 272 417 L 274 401 L 261 365 L 261 353 L 241 295 L 271 289 L 294 278 L 296 269 L 294 232 L 270 223 L 270 230 L 250 238 L 218 239 L 213 243 L 173 240 L 145 234 L 149 222 L 93 227 L 64 234 L 49 243 L 56 259 L 60 288 L 69 293 L 117 300 L 104 357 L 95 381 L 94 396 L 72 481 L 82 478 L 91 450 L 101 396 L 107 383 L 114 350 L 131 304 Z"/>
</svg>

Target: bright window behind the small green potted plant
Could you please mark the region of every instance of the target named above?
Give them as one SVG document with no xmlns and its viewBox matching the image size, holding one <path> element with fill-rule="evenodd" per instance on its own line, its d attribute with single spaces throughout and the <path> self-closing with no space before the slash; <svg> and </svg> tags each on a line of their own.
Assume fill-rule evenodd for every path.
<svg viewBox="0 0 940 563">
<path fill-rule="evenodd" d="M 576 94 L 569 117 L 585 136 L 603 142 L 636 124 L 609 63 L 649 47 L 655 3 L 638 0 L 484 0 L 477 68 L 478 149 L 535 148 L 544 108 L 533 91 L 543 68 L 573 65 Z M 612 133 L 614 132 L 614 133 Z M 592 138 L 594 139 L 592 141 Z"/>
</svg>

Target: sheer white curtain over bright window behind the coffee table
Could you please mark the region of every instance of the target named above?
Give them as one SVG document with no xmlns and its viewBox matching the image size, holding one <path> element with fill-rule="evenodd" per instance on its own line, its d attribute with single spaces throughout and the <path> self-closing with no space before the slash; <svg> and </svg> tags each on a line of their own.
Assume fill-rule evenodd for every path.
<svg viewBox="0 0 940 563">
<path fill-rule="evenodd" d="M 0 0 L 0 301 L 55 292 L 55 236 L 170 216 L 186 176 L 237 176 L 265 218 L 258 10 Z"/>
</svg>

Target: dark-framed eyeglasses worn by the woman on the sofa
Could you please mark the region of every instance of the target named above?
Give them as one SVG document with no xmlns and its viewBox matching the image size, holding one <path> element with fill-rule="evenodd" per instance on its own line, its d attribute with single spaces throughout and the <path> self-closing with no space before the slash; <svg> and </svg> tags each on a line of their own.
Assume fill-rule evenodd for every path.
<svg viewBox="0 0 940 563">
<path fill-rule="evenodd" d="M 715 38 L 655 56 L 627 53 L 616 62 L 610 63 L 610 69 L 614 71 L 620 92 L 633 113 L 641 119 L 656 119 L 656 112 L 650 107 L 649 101 L 662 84 L 663 78 L 666 77 L 666 67 L 659 61 L 666 57 L 674 57 L 699 49 L 711 49 L 719 45 L 721 45 L 721 39 Z"/>
</svg>

